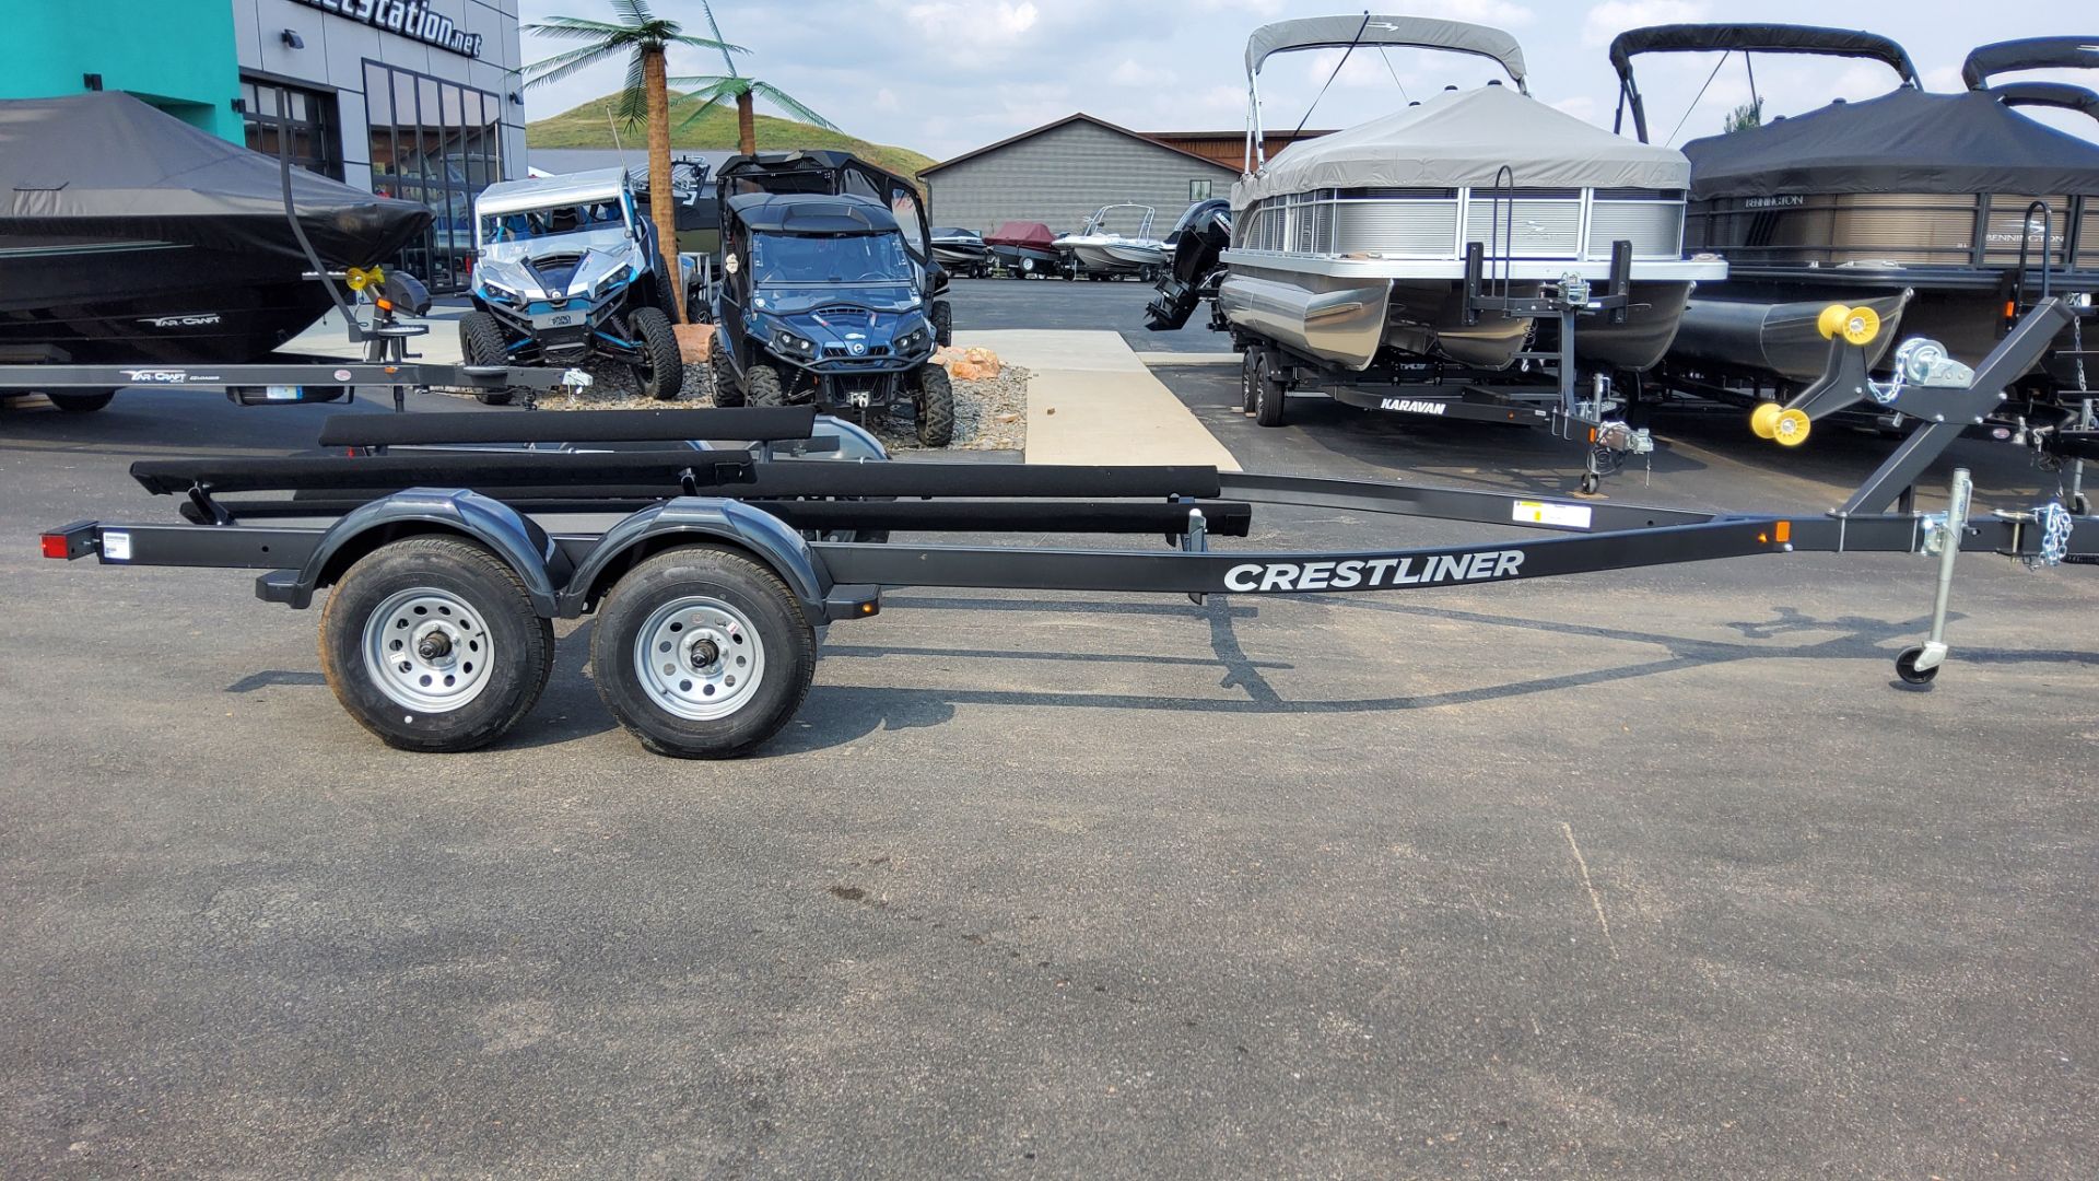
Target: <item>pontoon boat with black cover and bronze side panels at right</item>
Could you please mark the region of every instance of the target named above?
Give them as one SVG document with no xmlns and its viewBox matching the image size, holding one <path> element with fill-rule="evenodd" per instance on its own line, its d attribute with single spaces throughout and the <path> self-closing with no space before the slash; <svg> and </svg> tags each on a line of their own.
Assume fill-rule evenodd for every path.
<svg viewBox="0 0 2099 1181">
<path fill-rule="evenodd" d="M 1921 88 L 1900 44 L 1874 34 L 1658 25 L 1610 46 L 1618 118 L 1631 113 L 1641 139 L 1648 113 L 1631 59 L 1688 50 L 1858 57 L 1887 65 L 1897 88 L 1683 145 L 1685 248 L 1723 254 L 1730 275 L 1685 311 L 1665 370 L 1673 385 L 1816 378 L 1828 357 L 1818 315 L 1830 305 L 1877 313 L 1874 364 L 1897 326 L 1975 364 L 2038 294 L 2044 265 L 2057 292 L 2099 288 L 2099 227 L 2086 219 L 2086 206 L 2099 208 L 2099 145 L 2013 109 L 2036 95 L 2063 105 L 2076 88 L 1939 95 Z"/>
</svg>

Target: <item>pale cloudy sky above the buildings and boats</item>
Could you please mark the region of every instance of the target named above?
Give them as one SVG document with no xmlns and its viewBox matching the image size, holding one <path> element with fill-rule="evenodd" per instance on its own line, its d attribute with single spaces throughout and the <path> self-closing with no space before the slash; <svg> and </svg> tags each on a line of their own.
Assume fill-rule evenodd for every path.
<svg viewBox="0 0 2099 1181">
<path fill-rule="evenodd" d="M 707 36 L 699 0 L 651 0 L 653 11 Z M 611 19 L 611 0 L 521 0 L 531 23 L 548 15 Z M 1616 76 L 1606 48 L 1623 29 L 1671 21 L 1828 23 L 1860 6 L 1828 0 L 1383 0 L 1379 15 L 1434 15 L 1515 34 L 1530 65 L 1530 92 L 1560 109 L 1610 126 Z M 1335 0 L 716 0 L 722 40 L 745 76 L 777 84 L 842 130 L 875 143 L 959 156 L 1010 134 L 1085 111 L 1133 130 L 1241 130 L 1247 109 L 1247 34 L 1268 21 L 1362 13 Z M 1973 4 L 1908 0 L 1872 8 L 1870 32 L 1902 42 L 1925 86 L 1960 88 L 1960 59 L 1996 40 L 2072 34 L 2078 8 L 2059 4 Z M 569 42 L 573 44 L 573 42 Z M 525 34 L 525 61 L 565 42 Z M 1719 55 L 1635 59 L 1656 139 L 1683 143 L 1721 128 L 1748 101 L 1740 55 L 1713 74 Z M 1341 65 L 1339 74 L 1335 67 Z M 720 74 L 722 55 L 680 48 L 674 76 Z M 1268 128 L 1341 128 L 1387 113 L 1442 86 L 1478 86 L 1499 67 L 1427 50 L 1295 53 L 1261 71 Z M 1322 84 L 1324 97 L 1320 97 Z M 2040 71 L 2099 88 L 2099 76 Z M 1709 82 L 1711 80 L 1711 82 Z M 527 118 L 565 111 L 615 90 L 621 65 L 600 65 L 525 92 Z M 1889 90 L 1893 71 L 1872 61 L 1755 59 L 1765 118 L 1801 113 L 1830 99 Z M 1694 97 L 1702 99 L 1692 105 Z M 1318 105 L 1314 107 L 1314 99 Z M 764 103 L 760 103 L 764 111 Z M 772 111 L 779 113 L 779 111 Z M 2057 128 L 2099 139 L 2099 122 L 2068 111 L 2032 111 Z M 1627 122 L 1631 130 L 1631 122 Z M 781 145 L 785 147 L 785 145 Z"/>
</svg>

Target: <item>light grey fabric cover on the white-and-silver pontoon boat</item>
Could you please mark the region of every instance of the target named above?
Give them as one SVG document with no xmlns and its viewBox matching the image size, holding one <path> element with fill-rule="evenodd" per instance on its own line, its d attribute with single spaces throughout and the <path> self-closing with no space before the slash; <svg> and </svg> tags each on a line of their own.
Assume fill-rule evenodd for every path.
<svg viewBox="0 0 2099 1181">
<path fill-rule="evenodd" d="M 1507 86 L 1480 86 L 1297 141 L 1232 185 L 1232 208 L 1312 189 L 1486 189 L 1503 166 L 1520 189 L 1685 189 L 1692 177 L 1673 147 L 1610 134 Z"/>
</svg>

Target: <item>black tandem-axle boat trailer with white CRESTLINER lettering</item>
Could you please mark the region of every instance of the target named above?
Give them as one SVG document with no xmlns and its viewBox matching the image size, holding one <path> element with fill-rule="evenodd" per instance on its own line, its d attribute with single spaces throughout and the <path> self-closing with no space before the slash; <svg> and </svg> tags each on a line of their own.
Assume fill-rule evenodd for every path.
<svg viewBox="0 0 2099 1181">
<path fill-rule="evenodd" d="M 735 757 L 800 708 L 827 624 L 896 586 L 1188 595 L 1425 590 L 1788 553 L 1937 559 L 1929 639 L 1897 675 L 1948 656 L 1960 551 L 2036 565 L 2099 561 L 2099 521 L 2061 504 L 1971 517 L 1967 471 L 1946 513 L 1690 513 L 1408 483 L 1209 467 L 987 467 L 783 458 L 810 408 L 411 414 L 332 418 L 330 443 L 510 443 L 609 437 L 661 450 L 455 450 L 313 458 L 141 460 L 187 523 L 73 521 L 50 559 L 260 569 L 256 595 L 306 607 L 323 588 L 321 664 L 344 708 L 393 746 L 470 750 L 531 710 L 554 620 L 596 612 L 592 670 L 613 714 L 661 754 Z M 749 439 L 695 450 L 691 439 Z M 1944 443 L 1939 443 L 1944 450 Z M 1914 458 L 1914 456 L 1912 456 Z M 1921 471 L 1921 469 L 1918 469 Z M 292 492 L 290 500 L 243 498 Z M 1889 494 L 1893 496 L 1893 494 Z M 1459 546 L 1222 551 L 1255 504 L 1520 525 L 1543 536 Z M 2082 525 L 2082 530 L 2078 530 Z M 1167 551 L 810 540 L 825 530 L 1152 534 Z M 2076 540 L 2074 540 L 2076 538 Z M 2089 542 L 2086 542 L 2089 538 Z"/>
</svg>

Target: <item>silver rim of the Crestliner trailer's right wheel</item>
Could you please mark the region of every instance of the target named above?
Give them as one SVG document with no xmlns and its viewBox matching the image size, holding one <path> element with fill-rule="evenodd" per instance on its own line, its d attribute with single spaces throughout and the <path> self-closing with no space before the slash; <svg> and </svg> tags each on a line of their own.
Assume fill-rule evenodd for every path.
<svg viewBox="0 0 2099 1181">
<path fill-rule="evenodd" d="M 766 645 L 737 607 L 686 595 L 649 612 L 634 637 L 634 672 L 661 710 L 716 721 L 749 704 L 766 675 Z"/>
</svg>

